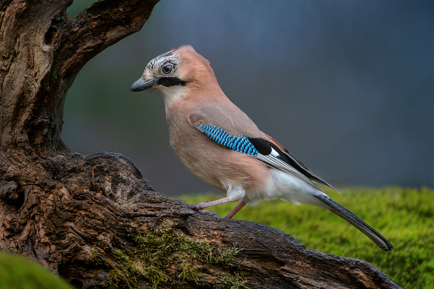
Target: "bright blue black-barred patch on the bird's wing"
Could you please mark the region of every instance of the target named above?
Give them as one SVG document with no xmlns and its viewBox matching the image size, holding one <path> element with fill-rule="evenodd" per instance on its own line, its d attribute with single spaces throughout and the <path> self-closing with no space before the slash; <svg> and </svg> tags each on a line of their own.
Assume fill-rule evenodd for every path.
<svg viewBox="0 0 434 289">
<path fill-rule="evenodd" d="M 220 143 L 221 145 L 227 146 L 228 148 L 236 150 L 237 152 L 247 153 L 252 156 L 258 155 L 258 151 L 245 136 L 231 136 L 225 133 L 224 130 L 218 127 L 212 127 L 209 124 L 202 124 L 197 128 L 216 143 Z"/>
</svg>

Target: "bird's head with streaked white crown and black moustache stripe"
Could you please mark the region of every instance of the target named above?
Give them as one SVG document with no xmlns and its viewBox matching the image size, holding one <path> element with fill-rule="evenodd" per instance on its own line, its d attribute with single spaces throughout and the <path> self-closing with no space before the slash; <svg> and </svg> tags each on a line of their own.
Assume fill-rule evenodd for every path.
<svg viewBox="0 0 434 289">
<path fill-rule="evenodd" d="M 216 86 L 220 90 L 209 62 L 193 47 L 184 45 L 152 59 L 130 91 L 155 90 L 168 101 L 182 97 L 188 89 Z"/>
</svg>

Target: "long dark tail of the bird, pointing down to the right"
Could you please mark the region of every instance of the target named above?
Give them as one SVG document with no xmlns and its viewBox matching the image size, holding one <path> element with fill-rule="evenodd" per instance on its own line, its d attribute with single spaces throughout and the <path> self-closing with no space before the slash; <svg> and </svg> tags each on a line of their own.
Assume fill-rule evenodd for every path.
<svg viewBox="0 0 434 289">
<path fill-rule="evenodd" d="M 333 213 L 337 214 L 339 217 L 349 221 L 354 227 L 358 228 L 363 234 L 368 236 L 369 239 L 374 241 L 378 247 L 385 251 L 391 251 L 393 246 L 386 240 L 385 237 L 381 236 L 380 233 L 375 231 L 371 226 L 366 224 L 361 218 L 358 218 L 356 214 L 354 214 L 349 209 L 345 208 L 337 201 L 334 201 L 332 198 L 327 195 L 316 195 L 316 198 L 319 198 L 325 204 L 327 204 L 330 208 L 328 208 Z"/>
</svg>

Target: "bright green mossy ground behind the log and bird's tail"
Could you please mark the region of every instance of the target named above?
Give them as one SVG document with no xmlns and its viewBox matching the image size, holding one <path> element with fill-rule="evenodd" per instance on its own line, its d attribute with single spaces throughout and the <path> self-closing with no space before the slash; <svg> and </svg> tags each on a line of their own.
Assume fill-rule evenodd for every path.
<svg viewBox="0 0 434 289">
<path fill-rule="evenodd" d="M 315 206 L 264 201 L 245 206 L 234 218 L 282 230 L 307 249 L 368 261 L 403 288 L 434 288 L 434 190 L 387 187 L 340 188 L 340 194 L 327 188 L 324 191 L 380 232 L 395 249 L 379 249 L 351 224 Z M 219 197 L 177 198 L 193 204 Z M 235 205 L 230 202 L 209 209 L 224 216 Z"/>
</svg>

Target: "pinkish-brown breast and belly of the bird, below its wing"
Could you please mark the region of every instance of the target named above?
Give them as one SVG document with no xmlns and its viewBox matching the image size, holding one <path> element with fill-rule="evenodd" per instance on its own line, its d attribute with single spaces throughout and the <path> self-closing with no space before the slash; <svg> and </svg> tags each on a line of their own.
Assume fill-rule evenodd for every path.
<svg viewBox="0 0 434 289">
<path fill-rule="evenodd" d="M 268 167 L 256 157 L 222 146 L 187 119 L 189 105 L 166 108 L 169 138 L 175 153 L 191 172 L 226 192 L 223 184 L 242 185 L 246 190 L 258 191 L 269 182 Z"/>
</svg>

